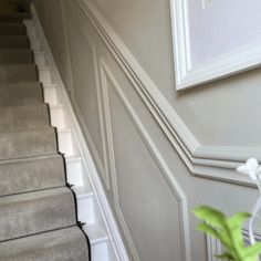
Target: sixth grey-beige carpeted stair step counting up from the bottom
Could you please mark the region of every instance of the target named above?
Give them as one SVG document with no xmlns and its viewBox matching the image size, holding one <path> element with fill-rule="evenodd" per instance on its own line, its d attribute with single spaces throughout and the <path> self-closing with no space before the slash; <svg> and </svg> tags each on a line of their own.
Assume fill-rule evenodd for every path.
<svg viewBox="0 0 261 261">
<path fill-rule="evenodd" d="M 39 82 L 0 83 L 0 106 L 43 101 L 43 87 Z"/>
</svg>

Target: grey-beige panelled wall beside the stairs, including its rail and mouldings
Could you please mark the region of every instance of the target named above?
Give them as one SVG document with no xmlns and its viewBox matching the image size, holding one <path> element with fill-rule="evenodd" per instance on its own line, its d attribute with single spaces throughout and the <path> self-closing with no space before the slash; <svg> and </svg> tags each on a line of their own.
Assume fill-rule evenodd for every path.
<svg viewBox="0 0 261 261">
<path fill-rule="evenodd" d="M 261 155 L 260 70 L 176 92 L 169 0 L 33 2 L 132 259 L 207 261 L 192 209 L 257 197 L 232 169 Z"/>
</svg>

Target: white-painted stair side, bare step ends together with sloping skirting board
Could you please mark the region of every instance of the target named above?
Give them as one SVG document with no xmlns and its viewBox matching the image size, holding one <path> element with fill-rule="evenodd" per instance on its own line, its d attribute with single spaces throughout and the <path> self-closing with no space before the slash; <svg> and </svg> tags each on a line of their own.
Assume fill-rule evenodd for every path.
<svg viewBox="0 0 261 261">
<path fill-rule="evenodd" d="M 116 221 L 106 199 L 97 170 L 74 114 L 41 23 L 24 21 L 44 101 L 50 105 L 51 123 L 58 129 L 59 150 L 64 155 L 67 182 L 76 195 L 77 216 L 90 238 L 92 261 L 128 261 Z"/>
</svg>

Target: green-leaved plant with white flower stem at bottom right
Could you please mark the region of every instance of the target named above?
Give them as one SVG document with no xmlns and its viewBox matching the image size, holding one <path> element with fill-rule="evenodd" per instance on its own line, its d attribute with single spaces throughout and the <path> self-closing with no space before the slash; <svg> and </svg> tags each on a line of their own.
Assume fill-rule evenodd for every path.
<svg viewBox="0 0 261 261">
<path fill-rule="evenodd" d="M 261 253 L 261 242 L 255 242 L 253 233 L 253 223 L 261 208 L 261 167 L 258 160 L 250 158 L 244 165 L 237 168 L 237 171 L 248 175 L 259 189 L 260 197 L 254 205 L 252 212 L 239 212 L 232 217 L 227 217 L 221 211 L 208 207 L 200 206 L 195 209 L 195 215 L 202 220 L 198 226 L 198 230 L 220 240 L 226 252 L 217 255 L 221 260 L 233 261 L 258 261 Z M 249 240 L 250 246 L 246 246 L 242 226 L 247 219 L 249 221 Z"/>
</svg>

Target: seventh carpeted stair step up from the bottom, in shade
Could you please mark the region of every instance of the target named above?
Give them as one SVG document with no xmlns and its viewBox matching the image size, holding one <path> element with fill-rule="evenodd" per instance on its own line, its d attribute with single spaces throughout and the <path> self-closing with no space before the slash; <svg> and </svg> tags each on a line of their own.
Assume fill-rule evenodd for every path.
<svg viewBox="0 0 261 261">
<path fill-rule="evenodd" d="M 0 82 L 38 82 L 34 64 L 0 65 Z"/>
</svg>

